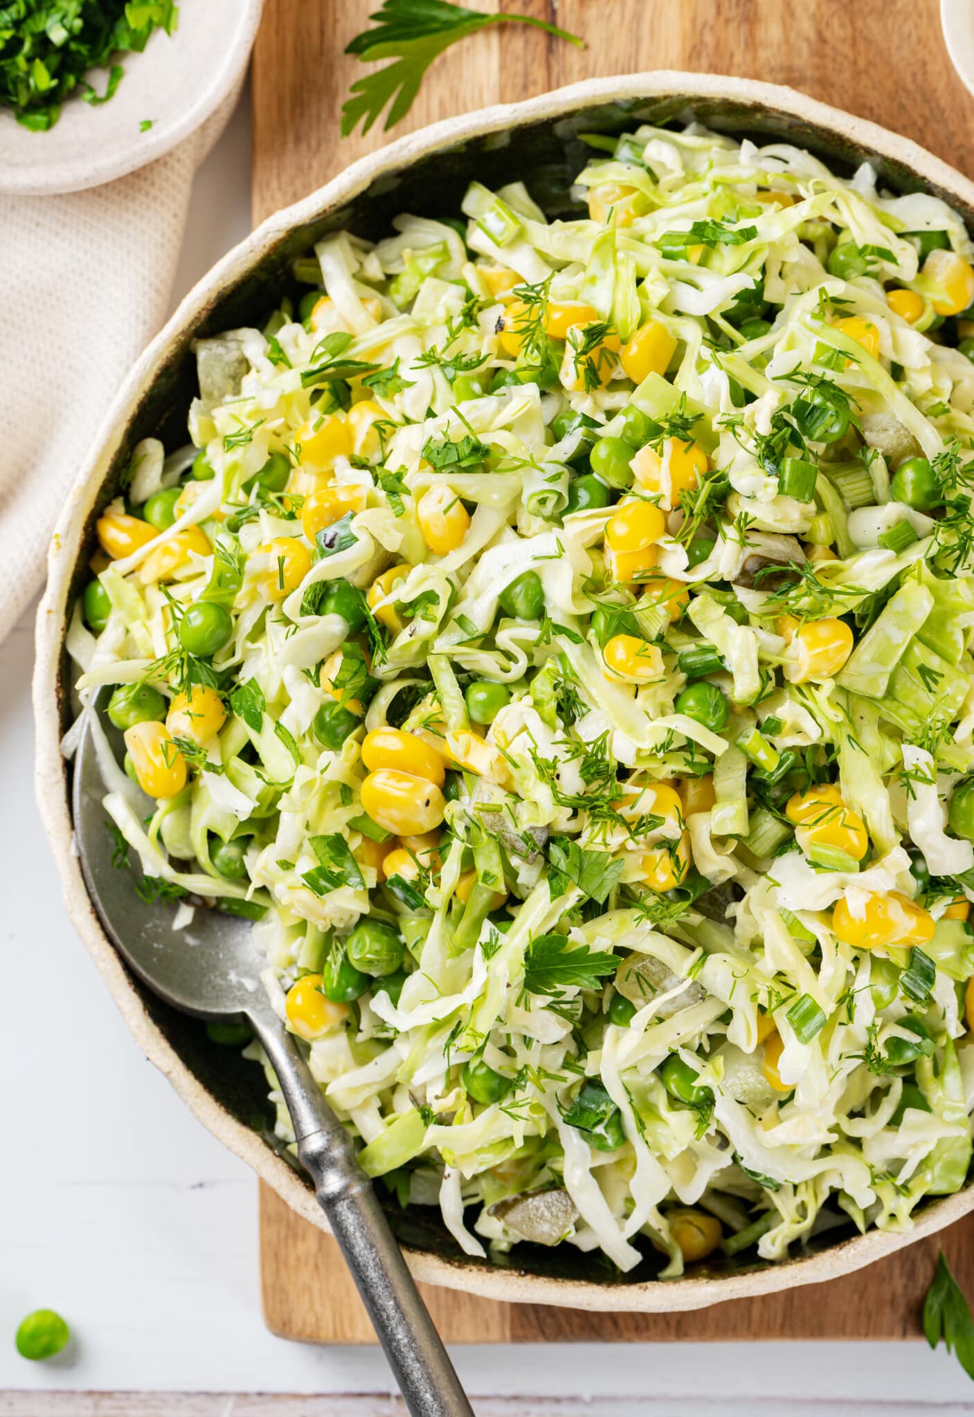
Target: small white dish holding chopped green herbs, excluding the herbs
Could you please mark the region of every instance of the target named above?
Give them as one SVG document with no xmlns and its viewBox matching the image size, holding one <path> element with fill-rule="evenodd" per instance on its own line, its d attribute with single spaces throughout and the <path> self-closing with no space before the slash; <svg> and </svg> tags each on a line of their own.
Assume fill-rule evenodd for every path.
<svg viewBox="0 0 974 1417">
<path fill-rule="evenodd" d="M 181 0 L 179 28 L 122 54 L 108 103 L 65 101 L 43 133 L 0 109 L 0 194 L 47 197 L 125 177 L 162 157 L 210 118 L 240 82 L 264 0 Z M 99 94 L 108 72 L 88 75 Z M 143 130 L 143 125 L 150 123 Z"/>
</svg>

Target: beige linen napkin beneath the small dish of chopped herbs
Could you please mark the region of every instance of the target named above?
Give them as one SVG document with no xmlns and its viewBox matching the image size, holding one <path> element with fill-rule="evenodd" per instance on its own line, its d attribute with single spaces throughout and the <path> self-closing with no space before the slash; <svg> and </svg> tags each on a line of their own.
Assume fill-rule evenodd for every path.
<svg viewBox="0 0 974 1417">
<path fill-rule="evenodd" d="M 163 322 L 193 173 L 238 96 L 129 177 L 0 197 L 0 639 L 40 588 L 61 503 Z"/>
</svg>

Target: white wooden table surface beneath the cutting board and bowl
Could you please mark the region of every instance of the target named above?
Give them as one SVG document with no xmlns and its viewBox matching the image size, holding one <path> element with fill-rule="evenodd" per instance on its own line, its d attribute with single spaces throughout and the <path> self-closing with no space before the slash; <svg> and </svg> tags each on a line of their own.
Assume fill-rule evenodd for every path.
<svg viewBox="0 0 974 1417">
<path fill-rule="evenodd" d="M 174 300 L 244 235 L 248 210 L 244 103 L 197 177 Z M 257 1182 L 140 1057 L 61 905 L 34 808 L 31 662 L 24 619 L 0 646 L 0 1417 L 400 1411 L 377 1350 L 303 1348 L 264 1328 Z M 13 1345 L 38 1306 L 61 1311 L 75 1335 L 52 1363 L 28 1363 Z M 957 1363 L 917 1343 L 756 1335 L 720 1346 L 466 1348 L 457 1363 L 482 1396 L 481 1417 L 974 1413 Z"/>
</svg>

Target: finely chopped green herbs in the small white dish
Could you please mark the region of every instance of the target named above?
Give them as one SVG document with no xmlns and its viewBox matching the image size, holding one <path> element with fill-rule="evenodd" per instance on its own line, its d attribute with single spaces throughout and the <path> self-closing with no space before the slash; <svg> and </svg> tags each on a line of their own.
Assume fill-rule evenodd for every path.
<svg viewBox="0 0 974 1417">
<path fill-rule="evenodd" d="M 103 103 L 125 72 L 118 57 L 145 50 L 153 30 L 173 34 L 177 18 L 174 0 L 7 0 L 0 9 L 0 108 L 44 132 L 75 92 L 86 103 Z M 88 77 L 98 68 L 108 69 L 102 92 Z"/>
</svg>

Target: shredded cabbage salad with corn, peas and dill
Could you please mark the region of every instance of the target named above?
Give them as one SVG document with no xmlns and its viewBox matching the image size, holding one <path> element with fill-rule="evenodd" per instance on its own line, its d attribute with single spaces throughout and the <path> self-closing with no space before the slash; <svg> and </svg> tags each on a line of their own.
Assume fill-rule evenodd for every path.
<svg viewBox="0 0 974 1417">
<path fill-rule="evenodd" d="M 673 1278 L 965 1182 L 973 248 L 588 142 L 561 218 L 475 181 L 200 340 L 68 648 L 119 860 L 254 921 L 364 1170 Z"/>
</svg>

